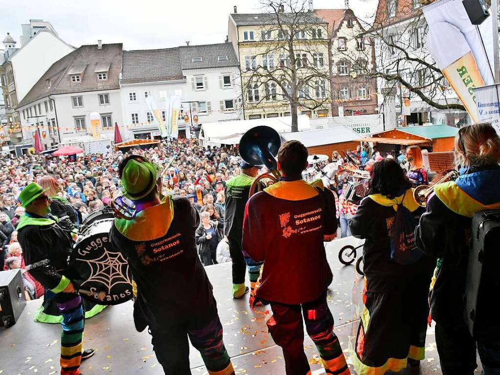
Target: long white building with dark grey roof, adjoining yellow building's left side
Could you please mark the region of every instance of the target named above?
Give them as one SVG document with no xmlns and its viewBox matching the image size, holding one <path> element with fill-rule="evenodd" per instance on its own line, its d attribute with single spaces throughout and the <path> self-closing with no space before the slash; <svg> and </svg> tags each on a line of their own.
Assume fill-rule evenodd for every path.
<svg viewBox="0 0 500 375">
<path fill-rule="evenodd" d="M 120 80 L 124 124 L 129 138 L 159 137 L 145 102 L 152 96 L 158 109 L 168 95 L 182 101 L 179 130 L 187 125 L 239 119 L 238 62 L 230 43 L 186 45 L 123 51 Z M 164 116 L 164 110 L 162 110 Z M 197 119 L 197 122 L 196 122 Z"/>
</svg>

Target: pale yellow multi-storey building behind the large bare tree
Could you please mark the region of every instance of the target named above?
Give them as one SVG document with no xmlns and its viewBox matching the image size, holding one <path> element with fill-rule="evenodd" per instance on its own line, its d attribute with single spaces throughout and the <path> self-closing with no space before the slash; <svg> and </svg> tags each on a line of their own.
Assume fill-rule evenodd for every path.
<svg viewBox="0 0 500 375">
<path fill-rule="evenodd" d="M 244 118 L 289 116 L 294 110 L 309 117 L 331 115 L 327 21 L 306 10 L 234 11 L 228 39 L 239 60 Z"/>
</svg>

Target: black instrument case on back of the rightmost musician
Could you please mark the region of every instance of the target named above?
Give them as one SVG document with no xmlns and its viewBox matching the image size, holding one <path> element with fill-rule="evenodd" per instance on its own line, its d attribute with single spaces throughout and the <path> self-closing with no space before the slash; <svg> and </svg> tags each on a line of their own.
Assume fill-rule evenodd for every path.
<svg viewBox="0 0 500 375">
<path fill-rule="evenodd" d="M 492 309 L 500 287 L 499 241 L 500 209 L 477 211 L 472 217 L 464 294 L 464 318 L 475 339 L 500 332 Z"/>
</svg>

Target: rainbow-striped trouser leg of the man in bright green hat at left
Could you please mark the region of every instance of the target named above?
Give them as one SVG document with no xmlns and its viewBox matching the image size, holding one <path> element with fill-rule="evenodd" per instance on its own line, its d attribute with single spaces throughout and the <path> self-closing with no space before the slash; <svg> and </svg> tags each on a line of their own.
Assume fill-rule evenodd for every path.
<svg viewBox="0 0 500 375">
<path fill-rule="evenodd" d="M 84 325 L 81 297 L 75 294 L 74 298 L 56 304 L 62 314 L 61 375 L 78 375 Z"/>
</svg>

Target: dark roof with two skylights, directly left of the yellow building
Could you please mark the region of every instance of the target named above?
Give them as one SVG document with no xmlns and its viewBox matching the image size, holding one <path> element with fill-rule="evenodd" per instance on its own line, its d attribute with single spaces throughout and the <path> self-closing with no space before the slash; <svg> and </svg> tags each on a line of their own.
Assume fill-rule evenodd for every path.
<svg viewBox="0 0 500 375">
<path fill-rule="evenodd" d="M 232 43 L 203 45 L 183 45 L 180 49 L 180 65 L 182 69 L 199 69 L 209 67 L 239 66 Z M 227 60 L 218 60 L 218 56 L 227 56 Z M 201 57 L 201 62 L 192 62 L 194 57 Z"/>
</svg>

